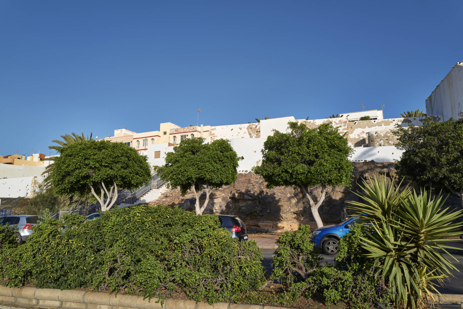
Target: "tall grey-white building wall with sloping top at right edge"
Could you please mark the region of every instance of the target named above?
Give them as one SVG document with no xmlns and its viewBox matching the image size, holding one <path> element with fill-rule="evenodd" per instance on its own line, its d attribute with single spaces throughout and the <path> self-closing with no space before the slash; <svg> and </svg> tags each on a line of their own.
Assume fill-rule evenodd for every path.
<svg viewBox="0 0 463 309">
<path fill-rule="evenodd" d="M 425 100 L 426 114 L 463 118 L 463 63 L 457 63 Z"/>
</svg>

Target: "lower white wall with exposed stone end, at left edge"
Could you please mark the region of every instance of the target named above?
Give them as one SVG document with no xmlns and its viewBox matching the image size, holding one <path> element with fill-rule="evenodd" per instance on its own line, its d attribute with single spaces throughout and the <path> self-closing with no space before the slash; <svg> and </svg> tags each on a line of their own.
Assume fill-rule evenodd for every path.
<svg viewBox="0 0 463 309">
<path fill-rule="evenodd" d="M 0 179 L 0 197 L 33 197 L 42 177 Z"/>
</svg>

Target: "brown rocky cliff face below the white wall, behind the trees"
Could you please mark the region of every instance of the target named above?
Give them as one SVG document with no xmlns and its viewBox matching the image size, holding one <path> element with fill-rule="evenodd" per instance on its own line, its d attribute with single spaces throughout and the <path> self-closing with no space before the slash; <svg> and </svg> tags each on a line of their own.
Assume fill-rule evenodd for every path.
<svg viewBox="0 0 463 309">
<path fill-rule="evenodd" d="M 346 201 L 359 201 L 357 192 L 362 179 L 367 180 L 375 175 L 386 175 L 391 181 L 395 175 L 394 163 L 353 163 L 353 181 L 350 187 L 332 187 L 327 189 L 325 201 L 319 208 L 320 216 L 325 224 L 339 222 Z M 320 187 L 311 190 L 313 195 L 320 196 Z M 206 194 L 200 196 L 203 203 Z M 184 209 L 194 211 L 194 195 L 188 193 L 181 196 L 180 190 L 165 192 L 150 205 L 180 205 Z M 312 212 L 306 199 L 302 199 L 299 190 L 291 187 L 265 188 L 263 178 L 250 172 L 238 174 L 237 181 L 229 187 L 223 187 L 211 193 L 205 214 L 236 214 L 247 227 L 259 227 L 269 230 L 295 230 L 300 224 L 313 222 Z"/>
</svg>

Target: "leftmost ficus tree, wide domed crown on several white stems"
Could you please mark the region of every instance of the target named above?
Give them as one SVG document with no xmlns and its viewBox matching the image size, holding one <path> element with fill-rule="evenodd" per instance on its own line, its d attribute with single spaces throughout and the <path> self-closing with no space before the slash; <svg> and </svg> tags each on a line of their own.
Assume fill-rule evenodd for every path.
<svg viewBox="0 0 463 309">
<path fill-rule="evenodd" d="M 51 179 L 55 194 L 91 193 L 101 211 L 113 207 L 119 189 L 133 190 L 150 182 L 147 157 L 124 143 L 79 141 L 58 152 Z"/>
</svg>

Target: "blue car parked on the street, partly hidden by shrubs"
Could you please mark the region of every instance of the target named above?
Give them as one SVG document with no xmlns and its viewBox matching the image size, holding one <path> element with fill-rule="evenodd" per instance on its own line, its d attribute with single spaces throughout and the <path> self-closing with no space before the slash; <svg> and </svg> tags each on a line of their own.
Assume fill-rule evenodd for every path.
<svg viewBox="0 0 463 309">
<path fill-rule="evenodd" d="M 312 233 L 311 242 L 315 247 L 321 249 L 325 254 L 335 255 L 338 253 L 339 240 L 350 231 L 357 218 L 349 218 L 339 223 L 338 225 L 327 225 L 317 228 Z M 357 219 L 358 220 L 358 219 Z M 360 222 L 357 222 L 360 223 Z"/>
</svg>

